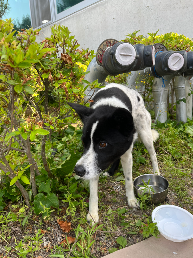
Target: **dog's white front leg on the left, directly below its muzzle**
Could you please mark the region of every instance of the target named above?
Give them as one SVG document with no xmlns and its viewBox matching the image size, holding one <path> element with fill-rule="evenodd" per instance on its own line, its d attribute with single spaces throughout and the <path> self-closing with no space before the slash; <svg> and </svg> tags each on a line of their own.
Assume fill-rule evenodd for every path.
<svg viewBox="0 0 193 258">
<path fill-rule="evenodd" d="M 93 221 L 92 224 L 95 224 L 99 221 L 98 215 L 98 181 L 99 176 L 90 179 L 90 198 L 89 198 L 89 213 L 86 216 L 88 221 Z"/>
</svg>

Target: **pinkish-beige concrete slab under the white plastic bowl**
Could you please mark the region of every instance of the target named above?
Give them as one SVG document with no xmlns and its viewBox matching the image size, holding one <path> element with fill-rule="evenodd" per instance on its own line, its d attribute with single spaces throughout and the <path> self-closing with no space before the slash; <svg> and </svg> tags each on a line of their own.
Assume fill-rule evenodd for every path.
<svg viewBox="0 0 193 258">
<path fill-rule="evenodd" d="M 156 239 L 154 236 L 131 245 L 105 258 L 193 258 L 193 239 L 174 243 L 162 235 Z"/>
</svg>

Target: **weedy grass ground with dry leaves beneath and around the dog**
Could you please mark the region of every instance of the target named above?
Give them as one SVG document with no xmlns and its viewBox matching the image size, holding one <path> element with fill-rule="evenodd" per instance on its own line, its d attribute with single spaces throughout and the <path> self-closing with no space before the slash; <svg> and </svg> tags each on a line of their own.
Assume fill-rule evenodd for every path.
<svg viewBox="0 0 193 258">
<path fill-rule="evenodd" d="M 178 205 L 193 214 L 192 121 L 186 124 L 158 124 L 160 138 L 155 143 L 161 175 L 169 181 L 168 197 L 162 204 Z M 133 150 L 133 179 L 153 173 L 144 145 Z M 148 203 L 142 209 L 127 205 L 125 181 L 120 166 L 114 177 L 100 177 L 100 223 L 87 224 L 88 182 L 79 181 L 79 192 L 67 193 L 59 209 L 36 216 L 20 200 L 7 204 L 0 215 L 0 257 L 103 257 L 108 253 L 158 235 L 151 220 L 152 210 L 160 205 Z M 63 202 L 62 202 L 63 200 Z M 7 209 L 7 210 L 6 210 Z M 61 222 L 63 221 L 63 222 Z"/>
</svg>

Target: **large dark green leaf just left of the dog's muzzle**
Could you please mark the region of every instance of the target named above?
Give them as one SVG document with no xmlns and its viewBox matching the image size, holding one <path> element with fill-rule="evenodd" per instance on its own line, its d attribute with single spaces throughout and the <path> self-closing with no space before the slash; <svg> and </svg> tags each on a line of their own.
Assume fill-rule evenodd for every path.
<svg viewBox="0 0 193 258">
<path fill-rule="evenodd" d="M 60 175 L 68 175 L 71 173 L 77 163 L 77 161 L 80 158 L 81 152 L 76 152 L 74 153 L 74 149 L 71 151 L 71 156 L 69 160 L 65 160 L 65 163 L 61 165 L 61 168 L 57 168 L 56 172 L 59 173 Z"/>
</svg>

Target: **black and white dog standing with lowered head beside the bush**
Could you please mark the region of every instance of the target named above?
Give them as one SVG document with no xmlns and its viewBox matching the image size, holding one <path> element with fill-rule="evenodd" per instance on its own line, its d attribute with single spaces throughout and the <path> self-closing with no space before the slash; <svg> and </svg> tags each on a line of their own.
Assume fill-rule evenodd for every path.
<svg viewBox="0 0 193 258">
<path fill-rule="evenodd" d="M 69 105 L 81 118 L 84 152 L 74 168 L 82 179 L 90 180 L 89 213 L 87 220 L 98 222 L 98 180 L 100 173 L 113 175 L 121 159 L 128 205 L 138 208 L 132 180 L 132 148 L 135 140 L 143 141 L 152 160 L 154 174 L 159 173 L 153 142 L 159 134 L 151 130 L 151 116 L 137 91 L 112 83 L 93 97 L 92 107 L 75 103 Z"/>
</svg>

